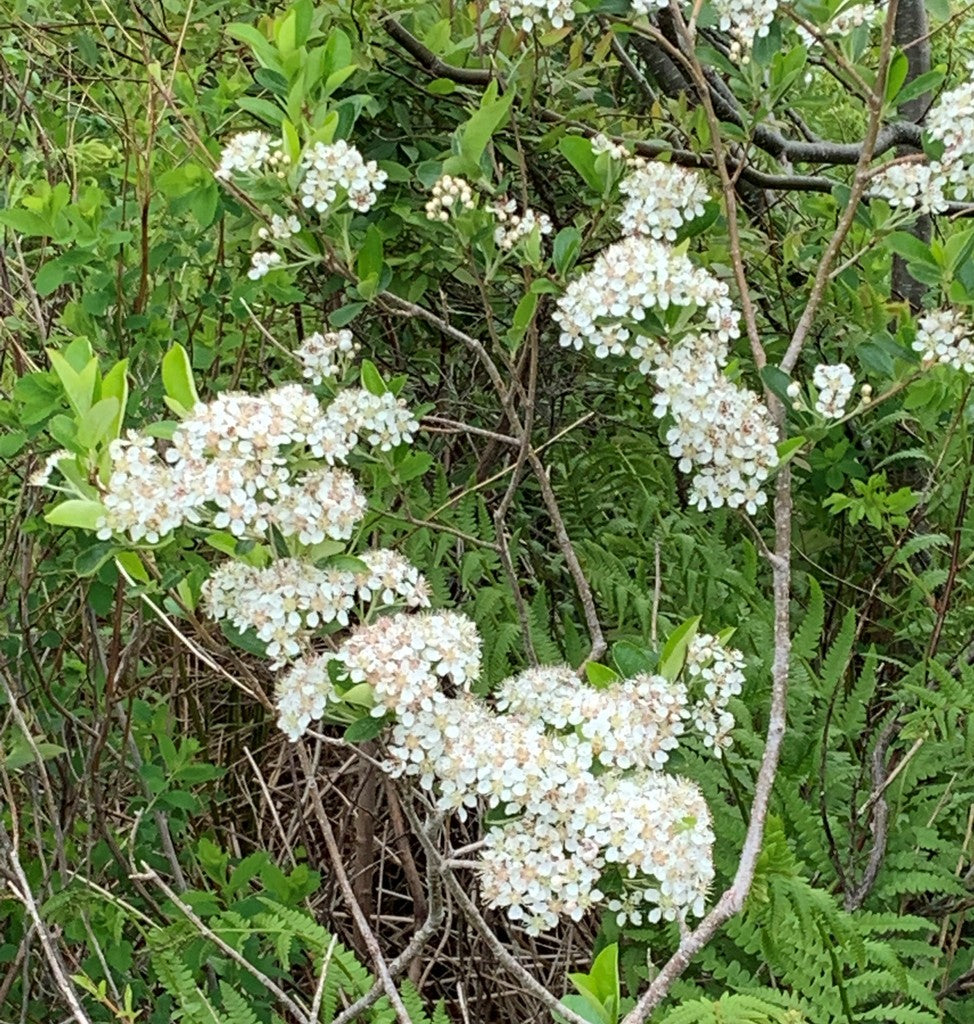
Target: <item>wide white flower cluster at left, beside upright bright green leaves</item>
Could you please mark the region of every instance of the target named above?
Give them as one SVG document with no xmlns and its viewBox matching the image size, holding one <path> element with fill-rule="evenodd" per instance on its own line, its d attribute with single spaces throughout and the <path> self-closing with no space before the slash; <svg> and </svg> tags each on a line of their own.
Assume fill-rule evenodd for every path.
<svg viewBox="0 0 974 1024">
<path fill-rule="evenodd" d="M 349 388 L 323 409 L 299 384 L 227 392 L 179 424 L 165 461 L 151 437 L 112 443 L 98 536 L 156 544 L 183 523 L 207 521 L 235 537 L 263 538 L 276 526 L 302 544 L 347 539 L 365 511 L 350 475 L 295 474 L 290 464 L 313 456 L 334 466 L 359 440 L 387 452 L 411 442 L 418 428 L 390 393 Z"/>
</svg>

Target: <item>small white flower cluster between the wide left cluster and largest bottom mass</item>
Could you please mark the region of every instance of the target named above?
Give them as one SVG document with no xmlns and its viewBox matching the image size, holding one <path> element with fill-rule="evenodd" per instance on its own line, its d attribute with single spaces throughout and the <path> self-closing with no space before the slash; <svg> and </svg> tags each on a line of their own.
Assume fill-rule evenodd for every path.
<svg viewBox="0 0 974 1024">
<path fill-rule="evenodd" d="M 217 622 L 225 618 L 241 633 L 253 630 L 281 666 L 308 653 L 312 631 L 349 626 L 356 601 L 363 607 L 429 604 L 425 579 L 397 552 L 367 551 L 361 561 L 362 570 L 317 568 L 301 558 L 263 567 L 222 562 L 203 584 L 204 606 Z"/>
</svg>

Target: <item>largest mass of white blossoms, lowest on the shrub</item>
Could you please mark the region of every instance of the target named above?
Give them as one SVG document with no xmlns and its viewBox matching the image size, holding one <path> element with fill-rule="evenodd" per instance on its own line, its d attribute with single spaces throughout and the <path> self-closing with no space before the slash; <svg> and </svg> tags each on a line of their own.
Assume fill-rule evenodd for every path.
<svg viewBox="0 0 974 1024">
<path fill-rule="evenodd" d="M 602 901 L 600 879 L 615 865 L 635 894 L 619 911 L 637 914 L 635 899 L 651 920 L 703 913 L 710 815 L 695 786 L 659 769 L 687 722 L 718 757 L 729 743 L 740 653 L 700 635 L 688 645 L 686 683 L 646 674 L 603 689 L 567 666 L 530 669 L 501 685 L 499 714 L 442 691 L 443 677 L 465 687 L 478 670 L 476 633 L 462 623 L 400 613 L 361 627 L 334 657 L 351 682 L 372 687 L 373 714 L 395 713 L 393 775 L 417 777 L 444 811 L 517 815 L 488 833 L 483 899 L 537 934 Z M 326 674 L 327 665 L 301 671 L 295 707 L 325 707 Z"/>
</svg>

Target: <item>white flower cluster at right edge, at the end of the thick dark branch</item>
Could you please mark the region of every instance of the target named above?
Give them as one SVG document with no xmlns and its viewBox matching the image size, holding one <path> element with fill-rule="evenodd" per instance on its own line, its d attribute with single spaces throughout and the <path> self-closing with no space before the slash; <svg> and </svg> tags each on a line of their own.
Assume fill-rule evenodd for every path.
<svg viewBox="0 0 974 1024">
<path fill-rule="evenodd" d="M 927 113 L 924 130 L 943 143 L 939 160 L 891 164 L 873 181 L 872 191 L 890 206 L 918 213 L 942 213 L 948 199 L 974 195 L 974 65 L 967 80 L 944 92 Z"/>
</svg>

